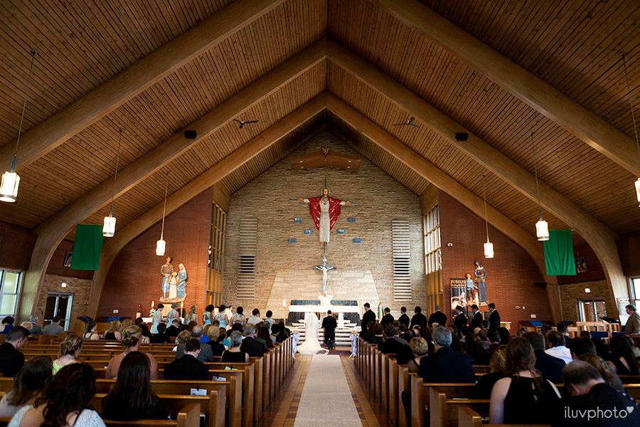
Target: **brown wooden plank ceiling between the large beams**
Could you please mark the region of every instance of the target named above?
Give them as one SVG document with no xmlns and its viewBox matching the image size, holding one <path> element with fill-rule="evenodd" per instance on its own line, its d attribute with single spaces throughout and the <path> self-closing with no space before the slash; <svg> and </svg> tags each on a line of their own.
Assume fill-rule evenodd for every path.
<svg viewBox="0 0 640 427">
<path fill-rule="evenodd" d="M 410 0 L 413 1 L 413 0 Z M 36 65 L 23 132 L 30 132 L 82 100 L 154 51 L 232 1 L 211 0 L 7 0 L 0 4 L 0 150 L 16 142 L 30 48 Z M 486 43 L 605 122 L 634 138 L 620 53 L 634 99 L 640 95 L 640 5 L 636 1 L 422 1 L 437 14 Z M 412 93 L 459 122 L 533 174 L 530 132 L 540 180 L 616 233 L 639 229 L 632 182 L 637 178 L 585 144 L 518 96 L 406 26 L 375 0 L 286 0 L 233 35 L 98 117 L 25 167 L 15 204 L 0 204 L 0 220 L 37 228 L 83 194 L 112 179 L 118 128 L 124 129 L 120 169 L 181 132 L 221 102 L 255 83 L 323 37 L 348 48 Z M 486 167 L 424 122 L 393 126 L 411 111 L 398 107 L 331 59 L 322 60 L 238 115 L 233 122 L 117 197 L 122 228 L 159 204 L 171 172 L 169 194 L 267 130 L 311 98 L 327 91 L 358 110 L 432 164 L 481 196 Z M 420 194 L 427 180 L 378 148 L 331 112 L 323 112 L 227 176 L 239 189 L 306 138 L 323 129 L 351 144 L 407 188 Z M 18 158 L 20 157 L 18 149 Z M 11 158 L 0 158 L 8 168 Z M 640 160 L 639 160 L 640 162 Z M 487 201 L 533 233 L 537 203 L 496 174 L 486 176 Z M 102 223 L 109 206 L 83 222 Z M 550 228 L 570 228 L 543 210 Z M 73 238 L 73 231 L 68 237 Z M 584 243 L 575 234 L 575 244 Z"/>
</svg>

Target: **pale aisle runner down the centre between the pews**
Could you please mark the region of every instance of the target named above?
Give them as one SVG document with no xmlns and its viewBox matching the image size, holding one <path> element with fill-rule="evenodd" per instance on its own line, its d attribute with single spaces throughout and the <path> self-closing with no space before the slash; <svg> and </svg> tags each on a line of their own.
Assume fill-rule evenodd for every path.
<svg viewBox="0 0 640 427">
<path fill-rule="evenodd" d="M 295 427 L 361 426 L 340 356 L 315 354 L 306 374 Z"/>
</svg>

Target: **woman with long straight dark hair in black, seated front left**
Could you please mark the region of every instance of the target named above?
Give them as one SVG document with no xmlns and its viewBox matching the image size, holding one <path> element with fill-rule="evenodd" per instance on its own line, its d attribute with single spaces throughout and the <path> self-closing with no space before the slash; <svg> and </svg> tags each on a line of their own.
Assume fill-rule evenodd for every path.
<svg viewBox="0 0 640 427">
<path fill-rule="evenodd" d="M 118 379 L 102 401 L 102 418 L 113 421 L 169 418 L 169 412 L 151 390 L 151 364 L 146 354 L 130 352 L 122 359 Z"/>
</svg>

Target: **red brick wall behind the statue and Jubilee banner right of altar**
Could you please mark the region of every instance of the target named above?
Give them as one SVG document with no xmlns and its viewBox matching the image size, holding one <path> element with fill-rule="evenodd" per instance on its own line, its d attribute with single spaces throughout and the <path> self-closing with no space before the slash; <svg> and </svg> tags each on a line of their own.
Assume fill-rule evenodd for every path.
<svg viewBox="0 0 640 427">
<path fill-rule="evenodd" d="M 545 289 L 533 285 L 542 282 L 543 278 L 530 256 L 516 243 L 489 226 L 489 238 L 494 243 L 495 257 L 484 258 L 484 219 L 472 214 L 442 191 L 439 191 L 438 197 L 445 301 L 443 311 L 451 315 L 451 307 L 446 303 L 451 298 L 449 279 L 464 278 L 466 273 L 473 275 L 474 260 L 479 260 L 486 269 L 489 302 L 496 304 L 503 322 L 512 322 L 512 334 L 518 330 L 518 322 L 531 320 L 532 314 L 536 315 L 535 320 L 551 320 Z M 535 216 L 532 218 L 534 221 Z M 447 243 L 453 243 L 453 246 L 447 246 Z M 516 305 L 524 306 L 525 310 L 516 310 Z"/>
</svg>

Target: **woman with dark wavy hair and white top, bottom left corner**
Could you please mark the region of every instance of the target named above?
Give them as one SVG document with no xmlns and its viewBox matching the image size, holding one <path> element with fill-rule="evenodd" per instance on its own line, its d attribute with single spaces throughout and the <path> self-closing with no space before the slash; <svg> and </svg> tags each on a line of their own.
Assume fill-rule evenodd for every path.
<svg viewBox="0 0 640 427">
<path fill-rule="evenodd" d="M 35 406 L 23 406 L 11 418 L 9 427 L 104 427 L 105 423 L 100 415 L 91 409 L 93 396 L 93 368 L 82 363 L 70 364 L 53 376 L 46 399 L 36 399 Z"/>
</svg>

